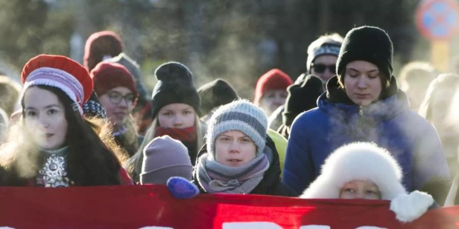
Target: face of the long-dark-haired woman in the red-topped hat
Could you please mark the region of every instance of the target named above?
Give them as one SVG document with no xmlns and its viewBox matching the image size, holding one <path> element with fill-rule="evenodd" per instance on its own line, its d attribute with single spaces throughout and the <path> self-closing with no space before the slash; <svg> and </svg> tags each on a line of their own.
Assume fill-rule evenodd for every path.
<svg viewBox="0 0 459 229">
<path fill-rule="evenodd" d="M 58 97 L 47 90 L 31 87 L 24 94 L 25 129 L 43 150 L 65 146 L 67 120 Z"/>
</svg>

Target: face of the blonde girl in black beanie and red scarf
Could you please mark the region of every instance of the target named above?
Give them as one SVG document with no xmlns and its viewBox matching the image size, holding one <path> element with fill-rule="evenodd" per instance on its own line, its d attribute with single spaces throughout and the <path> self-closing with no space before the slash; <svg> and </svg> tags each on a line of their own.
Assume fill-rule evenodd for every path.
<svg viewBox="0 0 459 229">
<path fill-rule="evenodd" d="M 158 124 L 165 128 L 188 128 L 194 126 L 194 108 L 185 103 L 172 103 L 163 106 L 158 112 Z"/>
</svg>

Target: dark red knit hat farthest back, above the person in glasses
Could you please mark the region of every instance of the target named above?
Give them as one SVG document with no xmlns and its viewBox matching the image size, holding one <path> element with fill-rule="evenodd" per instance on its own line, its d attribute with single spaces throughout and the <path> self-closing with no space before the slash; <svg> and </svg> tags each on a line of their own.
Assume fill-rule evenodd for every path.
<svg viewBox="0 0 459 229">
<path fill-rule="evenodd" d="M 122 40 L 112 31 L 100 31 L 91 34 L 85 45 L 85 56 L 83 64 L 88 71 L 91 71 L 99 62 L 119 55 L 123 51 Z"/>
</svg>

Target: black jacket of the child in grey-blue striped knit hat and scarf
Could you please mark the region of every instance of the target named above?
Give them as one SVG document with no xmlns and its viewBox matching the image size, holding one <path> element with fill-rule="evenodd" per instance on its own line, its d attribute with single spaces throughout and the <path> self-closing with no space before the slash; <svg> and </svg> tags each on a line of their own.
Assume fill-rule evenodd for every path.
<svg viewBox="0 0 459 229">
<path fill-rule="evenodd" d="M 199 157 L 206 153 L 207 145 L 204 145 L 198 153 L 196 163 Z M 298 196 L 298 193 L 296 193 L 293 189 L 291 189 L 286 184 L 281 183 L 281 166 L 279 163 L 279 154 L 277 153 L 274 141 L 268 136 L 266 137 L 266 147 L 263 153 L 268 156 L 269 167 L 263 175 L 263 180 L 250 192 L 250 194 Z M 195 173 L 193 173 L 193 183 L 198 186 L 201 193 L 206 193 L 206 191 L 199 185 L 199 182 L 197 182 Z"/>
</svg>

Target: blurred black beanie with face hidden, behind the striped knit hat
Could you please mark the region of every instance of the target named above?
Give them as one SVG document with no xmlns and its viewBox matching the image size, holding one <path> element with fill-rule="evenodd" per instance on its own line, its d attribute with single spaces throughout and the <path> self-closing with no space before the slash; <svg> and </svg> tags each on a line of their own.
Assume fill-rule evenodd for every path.
<svg viewBox="0 0 459 229">
<path fill-rule="evenodd" d="M 201 114 L 207 115 L 215 107 L 238 100 L 239 96 L 230 83 L 223 79 L 215 79 L 198 89 L 201 98 Z"/>
</svg>

